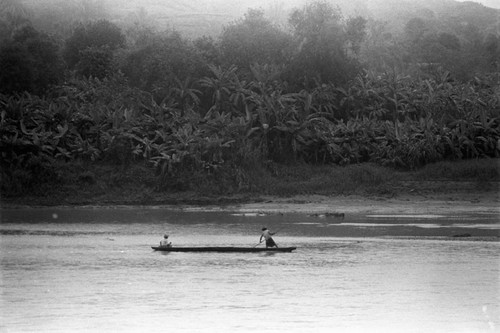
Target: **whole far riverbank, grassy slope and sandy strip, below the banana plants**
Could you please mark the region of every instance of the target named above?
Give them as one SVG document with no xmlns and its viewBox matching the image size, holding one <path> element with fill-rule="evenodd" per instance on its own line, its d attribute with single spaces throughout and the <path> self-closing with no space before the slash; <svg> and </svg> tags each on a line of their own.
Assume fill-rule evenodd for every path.
<svg viewBox="0 0 500 333">
<path fill-rule="evenodd" d="M 85 171 L 78 181 L 2 195 L 2 208 L 157 206 L 242 213 L 498 214 L 498 160 L 437 163 L 413 172 L 374 165 L 300 167 L 260 179 L 254 190 L 158 191 L 147 169 Z M 286 171 L 286 173 L 285 173 Z M 113 178 L 114 177 L 114 178 Z"/>
</svg>

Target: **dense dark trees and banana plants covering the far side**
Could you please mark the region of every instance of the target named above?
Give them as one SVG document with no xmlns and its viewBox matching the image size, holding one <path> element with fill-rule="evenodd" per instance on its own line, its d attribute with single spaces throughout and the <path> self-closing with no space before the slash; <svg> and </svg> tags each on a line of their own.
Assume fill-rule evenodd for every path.
<svg viewBox="0 0 500 333">
<path fill-rule="evenodd" d="M 500 27 L 415 18 L 394 36 L 314 2 L 288 30 L 249 10 L 217 39 L 91 18 L 49 35 L 3 6 L 4 195 L 71 182 L 64 168 L 94 183 L 97 165 L 144 166 L 157 190 L 234 193 L 287 165 L 500 153 Z"/>
</svg>

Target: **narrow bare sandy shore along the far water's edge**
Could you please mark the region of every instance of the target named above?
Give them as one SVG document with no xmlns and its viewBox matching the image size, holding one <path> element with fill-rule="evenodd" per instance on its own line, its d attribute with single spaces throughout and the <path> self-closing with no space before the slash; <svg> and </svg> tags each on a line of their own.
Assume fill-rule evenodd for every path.
<svg viewBox="0 0 500 333">
<path fill-rule="evenodd" d="M 430 186 L 432 185 L 432 186 Z M 483 184 L 484 185 L 484 184 Z M 487 189 L 478 189 L 472 182 L 433 182 L 432 184 L 406 184 L 405 192 L 391 196 L 372 195 L 296 195 L 230 197 L 199 197 L 193 193 L 158 195 L 149 202 L 122 200 L 87 200 L 75 203 L 71 200 L 55 202 L 52 199 L 25 197 L 23 200 L 2 200 L 2 208 L 26 208 L 47 206 L 150 206 L 173 210 L 232 211 L 248 214 L 498 214 L 500 219 L 500 192 L 498 183 L 489 183 Z M 410 188 L 411 187 L 411 188 Z M 432 192 L 440 187 L 447 192 Z M 68 198 L 67 198 L 68 199 Z M 50 201 L 51 204 L 47 204 Z"/>
</svg>

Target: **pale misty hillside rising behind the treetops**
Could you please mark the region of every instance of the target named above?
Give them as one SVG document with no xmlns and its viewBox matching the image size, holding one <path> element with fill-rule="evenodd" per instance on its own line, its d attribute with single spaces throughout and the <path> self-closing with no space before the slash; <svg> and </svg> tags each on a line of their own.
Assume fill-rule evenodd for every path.
<svg viewBox="0 0 500 333">
<path fill-rule="evenodd" d="M 290 13 L 310 0 L 22 0 L 34 12 L 59 10 L 64 13 L 98 13 L 120 25 L 148 25 L 158 30 L 175 29 L 186 37 L 217 36 L 224 26 L 244 17 L 248 9 L 261 9 L 274 24 L 288 28 Z M 500 34 L 500 1 L 455 0 L 329 0 L 344 17 L 363 16 L 386 22 L 389 30 L 401 32 L 412 18 L 438 19 L 443 23 L 474 24 L 481 30 Z M 488 7 L 489 6 L 489 7 Z M 88 8 L 85 8 L 88 7 Z M 50 12 L 49 11 L 49 12 Z M 47 13 L 47 15 L 54 15 Z M 77 18 L 81 17 L 81 13 Z M 74 20 L 74 18 L 73 18 Z"/>
</svg>

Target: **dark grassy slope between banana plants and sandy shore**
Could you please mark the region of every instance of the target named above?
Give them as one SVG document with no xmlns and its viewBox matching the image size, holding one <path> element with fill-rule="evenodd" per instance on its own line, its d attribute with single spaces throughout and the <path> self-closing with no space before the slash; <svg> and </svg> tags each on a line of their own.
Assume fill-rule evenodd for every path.
<svg viewBox="0 0 500 333">
<path fill-rule="evenodd" d="M 26 183 L 33 183 L 28 175 Z M 398 171 L 375 164 L 349 166 L 249 167 L 245 187 L 220 177 L 194 175 L 177 190 L 161 190 L 159 175 L 145 164 L 116 167 L 96 163 L 62 163 L 39 173 L 35 186 L 3 186 L 3 205 L 230 204 L 263 197 L 298 195 L 397 198 L 415 195 L 491 193 L 498 197 L 499 159 L 439 162 L 416 171 Z M 29 179 L 28 179 L 29 178 Z M 3 184 L 6 185 L 6 184 Z"/>
</svg>

